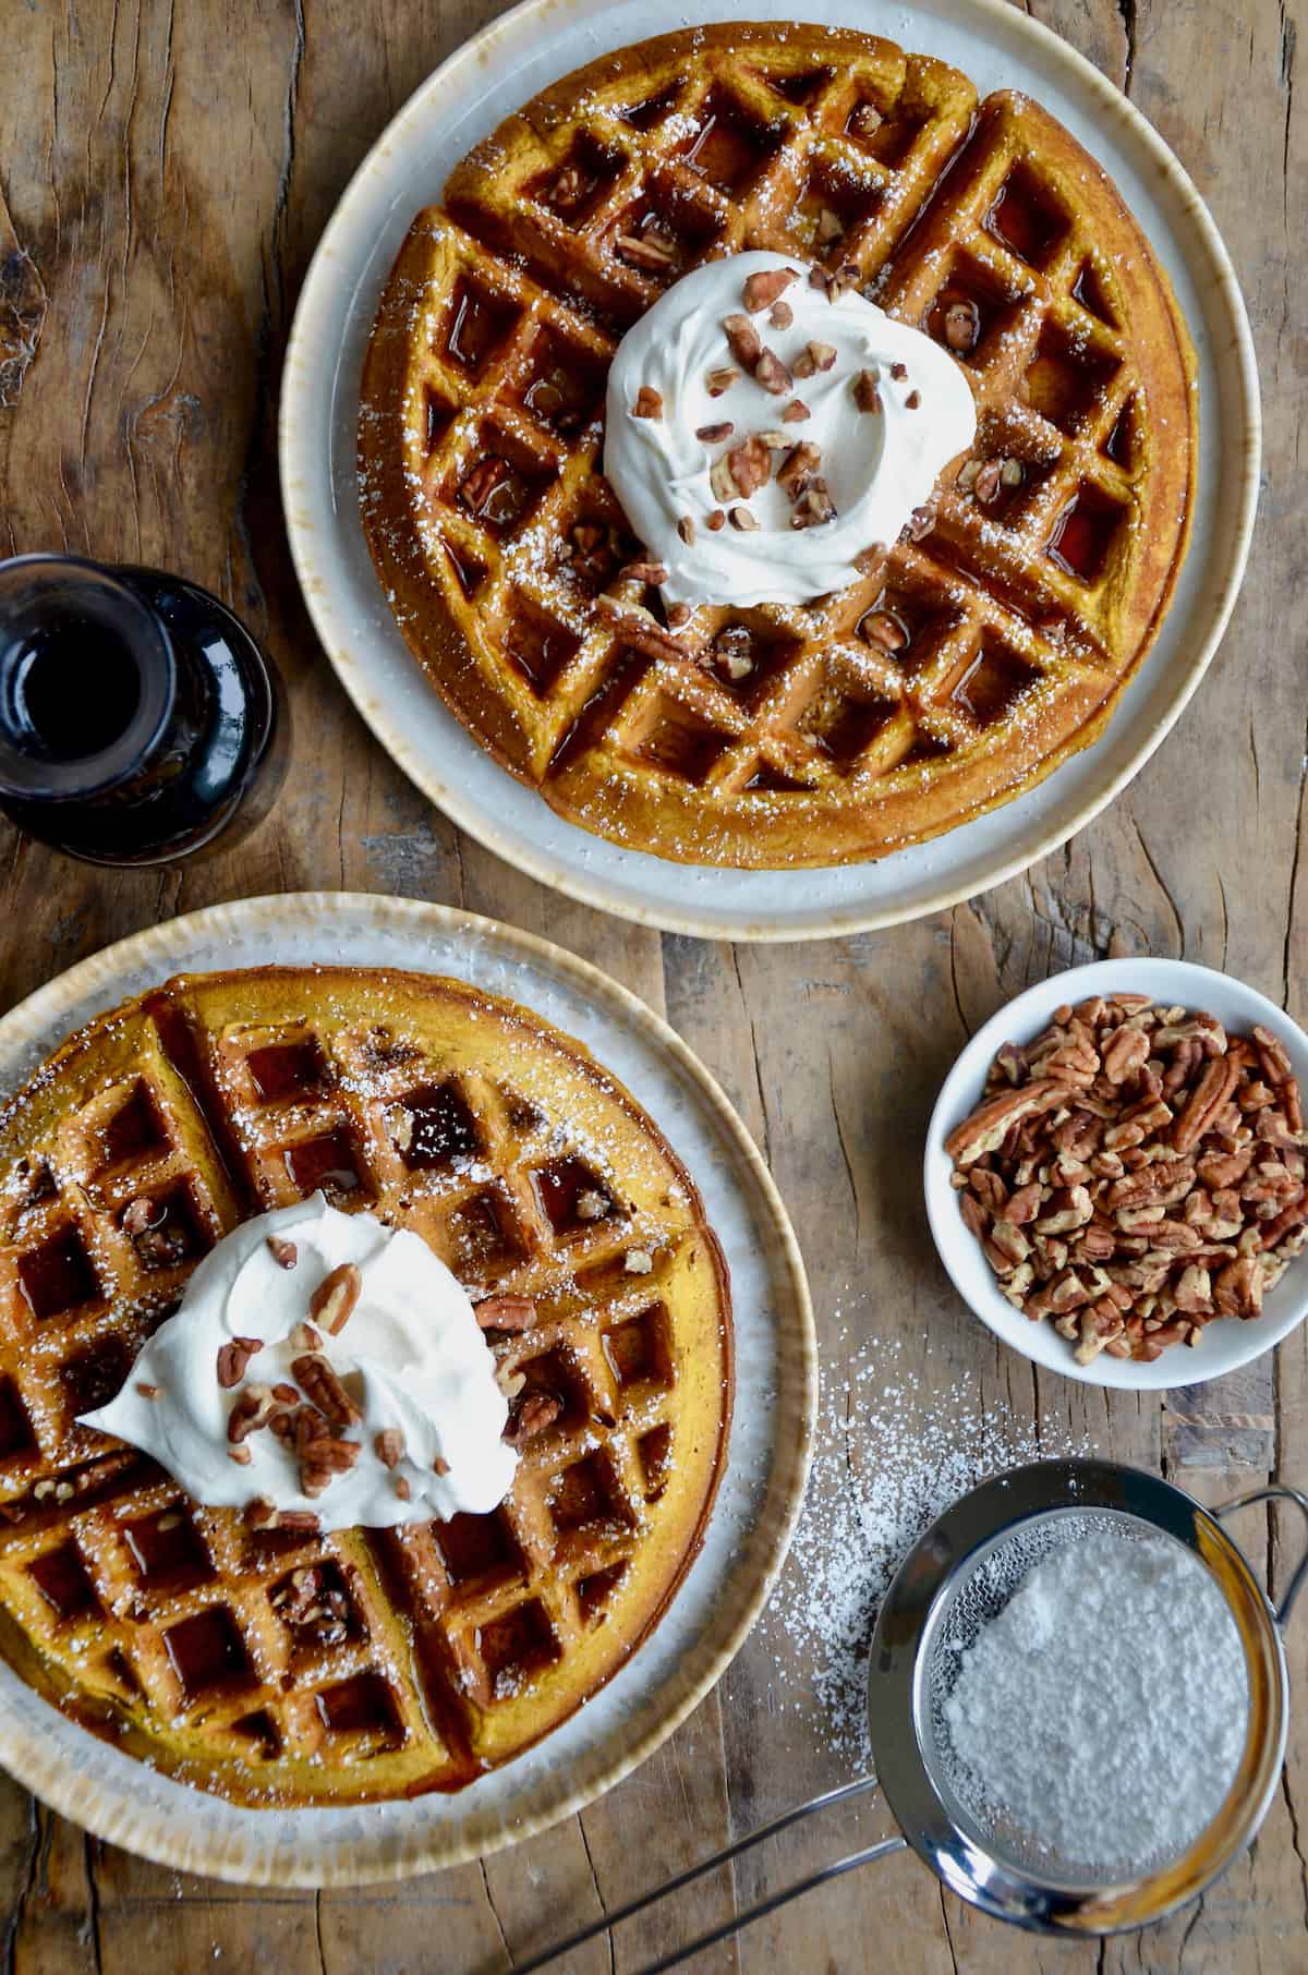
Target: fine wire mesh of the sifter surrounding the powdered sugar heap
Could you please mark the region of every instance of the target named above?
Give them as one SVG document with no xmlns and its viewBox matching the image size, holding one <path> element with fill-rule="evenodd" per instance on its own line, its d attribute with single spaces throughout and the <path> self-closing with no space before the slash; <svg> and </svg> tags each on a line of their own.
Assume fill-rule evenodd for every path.
<svg viewBox="0 0 1308 1975">
<path fill-rule="evenodd" d="M 1099 1892 L 1124 1880 L 1142 1878 L 1146 1872 L 1168 1864 L 1180 1856 L 1211 1819 L 1229 1789 L 1239 1764 L 1239 1750 L 1247 1726 L 1245 1714 L 1231 1718 L 1221 1728 L 1213 1750 L 1211 1789 L 1215 1799 L 1199 1823 L 1185 1825 L 1185 1805 L 1176 1805 L 1178 1841 L 1170 1847 L 1156 1847 L 1144 1856 L 1114 1860 L 1110 1868 L 1103 1858 L 1079 1856 L 1075 1847 L 1049 1841 L 1047 1831 L 1020 1825 L 1002 1803 L 996 1801 L 984 1774 L 968 1764 L 956 1750 L 948 1724 L 948 1700 L 958 1683 L 964 1655 L 976 1647 L 978 1637 L 992 1620 L 1004 1612 L 1014 1594 L 1022 1588 L 1029 1572 L 1045 1560 L 1087 1539 L 1108 1539 L 1116 1544 L 1150 1542 L 1164 1544 L 1168 1558 L 1172 1552 L 1184 1558 L 1184 1568 L 1193 1570 L 1195 1616 L 1221 1631 L 1231 1627 L 1239 1645 L 1239 1629 L 1217 1580 L 1199 1558 L 1193 1556 L 1174 1537 L 1160 1533 L 1154 1523 L 1114 1509 L 1057 1509 L 1043 1517 L 1020 1523 L 982 1546 L 968 1568 L 960 1570 L 944 1590 L 931 1614 L 927 1633 L 917 1657 L 915 1714 L 923 1762 L 952 1823 L 972 1837 L 982 1851 L 1006 1860 L 1010 1866 L 1041 1880 L 1047 1886 Z M 1243 1647 L 1239 1647 L 1243 1659 Z M 1104 1693 L 1112 1693 L 1112 1683 L 1130 1685 L 1130 1669 L 1114 1669 L 1097 1653 L 1097 1641 L 1087 1639 L 1077 1663 L 1061 1667 L 1059 1679 L 1067 1679 L 1069 1693 L 1075 1681 L 1097 1681 Z M 1243 1671 L 1241 1671 L 1243 1679 Z M 1018 1728 L 1022 1732 L 1022 1726 Z M 1130 1732 L 1128 1724 L 1122 1732 Z M 1235 1756 L 1231 1758 L 1231 1750 Z M 1227 1774 L 1219 1774 L 1221 1766 Z"/>
</svg>

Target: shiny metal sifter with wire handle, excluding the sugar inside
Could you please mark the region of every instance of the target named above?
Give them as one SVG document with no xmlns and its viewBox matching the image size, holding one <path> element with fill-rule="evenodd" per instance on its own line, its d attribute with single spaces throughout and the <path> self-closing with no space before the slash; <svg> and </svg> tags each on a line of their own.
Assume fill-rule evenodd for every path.
<svg viewBox="0 0 1308 1975">
<path fill-rule="evenodd" d="M 1292 1501 L 1308 1519 L 1308 1495 L 1296 1489 L 1261 1487 L 1209 1511 L 1170 1481 L 1110 1462 L 1035 1462 L 984 1481 L 931 1525 L 885 1594 L 867 1667 L 875 1774 L 796 1805 L 701 1864 L 518 1963 L 516 1975 L 531 1975 L 557 1961 L 814 1811 L 877 1787 L 895 1813 L 901 1837 L 836 1858 L 676 1953 L 648 1963 L 640 1975 L 660 1975 L 814 1886 L 909 1845 L 958 1898 L 998 1920 L 1041 1934 L 1118 1934 L 1162 1920 L 1197 1898 L 1259 1831 L 1286 1746 L 1288 1677 L 1280 1629 L 1308 1576 L 1308 1556 L 1298 1564 L 1280 1604 L 1272 1606 L 1223 1527 L 1225 1517 L 1259 1501 Z M 1037 1562 L 1089 1533 L 1172 1537 L 1197 1556 L 1227 1600 L 1249 1677 L 1245 1748 L 1225 1803 L 1180 1856 L 1142 1870 L 1132 1880 L 1095 1876 L 1077 1860 L 1041 1845 L 1039 1833 L 1002 1829 L 998 1821 L 984 1823 L 964 1803 L 958 1762 L 944 1726 L 944 1702 L 962 1651 Z"/>
</svg>

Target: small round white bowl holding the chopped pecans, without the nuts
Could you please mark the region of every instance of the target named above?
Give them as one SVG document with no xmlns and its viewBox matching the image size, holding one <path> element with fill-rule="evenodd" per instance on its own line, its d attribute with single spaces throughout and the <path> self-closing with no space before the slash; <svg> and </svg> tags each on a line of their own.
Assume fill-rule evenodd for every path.
<svg viewBox="0 0 1308 1975">
<path fill-rule="evenodd" d="M 1077 1365 L 1073 1347 L 1059 1337 L 1053 1323 L 1033 1323 L 1000 1296 L 998 1282 L 982 1254 L 982 1246 L 962 1223 L 958 1193 L 950 1185 L 952 1161 L 944 1140 L 956 1124 L 980 1102 L 986 1070 L 1002 1043 L 1029 1043 L 1047 1027 L 1053 1009 L 1063 1001 L 1083 1001 L 1093 993 L 1148 993 L 1164 1007 L 1182 1003 L 1207 1009 L 1233 1033 L 1247 1035 L 1255 1021 L 1265 1023 L 1284 1043 L 1294 1074 L 1308 1092 L 1308 1035 L 1267 995 L 1245 988 L 1229 974 L 1195 968 L 1185 960 L 1097 960 L 1089 968 L 1069 968 L 1047 982 L 1037 982 L 1000 1009 L 978 1029 L 944 1078 L 927 1132 L 925 1187 L 931 1232 L 962 1300 L 1014 1351 L 1022 1351 L 1049 1371 L 1087 1384 L 1118 1386 L 1132 1392 L 1166 1392 L 1170 1386 L 1201 1384 L 1219 1379 L 1239 1365 L 1249 1365 L 1288 1337 L 1308 1311 L 1308 1254 L 1292 1262 L 1274 1290 L 1268 1290 L 1261 1317 L 1219 1317 L 1203 1329 L 1203 1343 L 1168 1345 L 1152 1365 L 1106 1357 L 1103 1351 L 1091 1365 Z"/>
</svg>

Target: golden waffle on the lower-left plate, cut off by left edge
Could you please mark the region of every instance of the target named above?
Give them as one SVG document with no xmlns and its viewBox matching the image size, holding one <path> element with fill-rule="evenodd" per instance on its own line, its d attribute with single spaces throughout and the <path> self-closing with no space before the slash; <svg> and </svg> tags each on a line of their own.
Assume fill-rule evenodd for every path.
<svg viewBox="0 0 1308 1975">
<path fill-rule="evenodd" d="M 725 1460 L 727 1276 L 579 1043 L 452 980 L 176 980 L 8 1104 L 0 1179 L 0 1649 L 69 1714 L 241 1803 L 458 1789 L 660 1620 Z M 474 1298 L 535 1300 L 494 1349 L 516 1408 L 561 1410 L 494 1515 L 255 1533 L 75 1424 L 200 1254 L 318 1187 L 415 1228 Z"/>
</svg>

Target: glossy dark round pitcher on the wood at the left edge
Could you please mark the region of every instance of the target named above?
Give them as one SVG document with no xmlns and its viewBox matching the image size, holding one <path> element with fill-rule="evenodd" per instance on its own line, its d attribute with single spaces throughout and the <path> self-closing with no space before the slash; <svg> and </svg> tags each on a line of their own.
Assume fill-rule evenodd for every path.
<svg viewBox="0 0 1308 1975">
<path fill-rule="evenodd" d="M 207 591 L 65 555 L 0 563 L 0 808 L 109 865 L 227 849 L 281 788 L 281 679 Z"/>
</svg>

